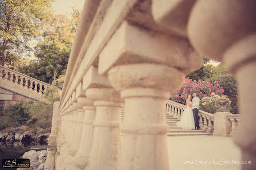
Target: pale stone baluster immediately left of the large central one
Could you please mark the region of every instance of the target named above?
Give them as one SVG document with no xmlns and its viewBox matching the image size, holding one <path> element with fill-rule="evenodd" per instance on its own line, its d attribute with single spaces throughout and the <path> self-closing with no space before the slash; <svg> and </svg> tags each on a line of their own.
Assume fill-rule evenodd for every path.
<svg viewBox="0 0 256 170">
<path fill-rule="evenodd" d="M 119 125 L 123 102 L 113 88 L 87 89 L 86 96 L 96 106 L 91 156 L 86 169 L 117 169 L 121 151 Z"/>
</svg>

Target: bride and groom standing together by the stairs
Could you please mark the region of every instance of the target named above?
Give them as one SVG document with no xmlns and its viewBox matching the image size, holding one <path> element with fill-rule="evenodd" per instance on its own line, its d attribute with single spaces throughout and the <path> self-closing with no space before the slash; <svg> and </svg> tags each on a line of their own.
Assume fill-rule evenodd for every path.
<svg viewBox="0 0 256 170">
<path fill-rule="evenodd" d="M 186 100 L 187 108 L 184 109 L 180 121 L 176 123 L 178 127 L 188 130 L 200 129 L 197 119 L 197 114 L 199 111 L 199 101 L 200 99 L 196 97 L 196 93 L 193 93 L 193 100 L 191 94 L 188 94 Z"/>
</svg>

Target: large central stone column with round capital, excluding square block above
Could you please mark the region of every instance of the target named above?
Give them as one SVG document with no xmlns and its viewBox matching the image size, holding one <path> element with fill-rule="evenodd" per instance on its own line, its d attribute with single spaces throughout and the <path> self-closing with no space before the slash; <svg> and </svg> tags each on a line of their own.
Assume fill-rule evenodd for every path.
<svg viewBox="0 0 256 170">
<path fill-rule="evenodd" d="M 165 118 L 168 81 L 175 79 L 172 86 L 180 86 L 184 75 L 165 65 L 134 64 L 110 69 L 108 78 L 121 90 L 126 106 L 118 169 L 169 169 Z"/>
</svg>

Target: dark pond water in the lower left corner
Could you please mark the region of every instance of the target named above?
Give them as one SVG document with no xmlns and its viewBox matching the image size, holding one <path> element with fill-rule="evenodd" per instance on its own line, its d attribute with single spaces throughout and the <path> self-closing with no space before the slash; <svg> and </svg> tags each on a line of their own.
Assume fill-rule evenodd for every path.
<svg viewBox="0 0 256 170">
<path fill-rule="evenodd" d="M 2 168 L 2 159 L 21 159 L 21 156 L 25 152 L 30 151 L 30 147 L 34 145 L 47 145 L 46 143 L 22 143 L 22 142 L 13 142 L 13 143 L 0 143 L 0 169 L 17 169 L 17 168 Z"/>
</svg>

